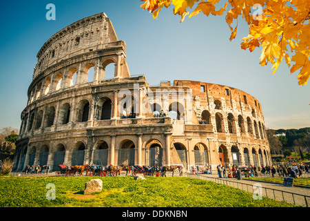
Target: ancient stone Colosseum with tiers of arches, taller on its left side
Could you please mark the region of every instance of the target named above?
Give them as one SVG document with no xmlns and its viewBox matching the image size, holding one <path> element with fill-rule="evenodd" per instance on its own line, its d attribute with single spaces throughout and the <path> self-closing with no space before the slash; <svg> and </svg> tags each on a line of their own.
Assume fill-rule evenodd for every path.
<svg viewBox="0 0 310 221">
<path fill-rule="evenodd" d="M 104 12 L 45 42 L 21 113 L 14 171 L 27 164 L 52 171 L 59 164 L 271 164 L 255 97 L 200 81 L 150 86 L 144 75 L 130 75 L 125 58 L 125 41 Z"/>
</svg>

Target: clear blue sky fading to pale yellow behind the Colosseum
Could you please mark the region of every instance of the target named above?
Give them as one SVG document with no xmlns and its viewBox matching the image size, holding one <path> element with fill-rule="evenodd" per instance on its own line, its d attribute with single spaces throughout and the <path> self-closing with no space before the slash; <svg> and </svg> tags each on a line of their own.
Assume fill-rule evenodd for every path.
<svg viewBox="0 0 310 221">
<path fill-rule="evenodd" d="M 56 20 L 45 18 L 48 3 L 56 6 Z M 33 0 L 0 3 L 0 128 L 19 128 L 27 103 L 37 52 L 54 33 L 74 21 L 105 12 L 118 39 L 127 44 L 131 75 L 145 75 L 151 85 L 184 79 L 223 84 L 258 99 L 267 128 L 310 126 L 310 82 L 299 86 L 282 62 L 275 75 L 271 64 L 260 66 L 260 48 L 242 50 L 248 27 L 238 20 L 236 39 L 223 16 L 197 15 L 179 23 L 173 6 L 158 19 L 140 8 L 138 0 Z"/>
</svg>

